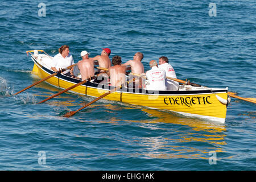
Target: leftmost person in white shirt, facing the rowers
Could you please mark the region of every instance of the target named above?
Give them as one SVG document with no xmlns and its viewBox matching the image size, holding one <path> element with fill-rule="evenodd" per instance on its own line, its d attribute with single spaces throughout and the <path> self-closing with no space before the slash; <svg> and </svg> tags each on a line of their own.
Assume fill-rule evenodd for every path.
<svg viewBox="0 0 256 182">
<path fill-rule="evenodd" d="M 69 46 L 64 45 L 59 48 L 59 53 L 53 57 L 51 69 L 55 72 L 67 68 L 74 64 L 72 55 L 69 54 Z M 73 68 L 63 72 L 64 75 L 74 76 Z"/>
</svg>

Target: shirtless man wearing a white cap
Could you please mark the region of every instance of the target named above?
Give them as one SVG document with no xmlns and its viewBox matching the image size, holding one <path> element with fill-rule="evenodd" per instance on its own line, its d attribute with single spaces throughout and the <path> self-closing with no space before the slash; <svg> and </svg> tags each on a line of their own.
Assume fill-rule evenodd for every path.
<svg viewBox="0 0 256 182">
<path fill-rule="evenodd" d="M 82 60 L 77 63 L 80 70 L 82 80 L 86 80 L 94 76 L 94 60 L 89 58 L 90 53 L 87 51 L 81 52 Z"/>
</svg>

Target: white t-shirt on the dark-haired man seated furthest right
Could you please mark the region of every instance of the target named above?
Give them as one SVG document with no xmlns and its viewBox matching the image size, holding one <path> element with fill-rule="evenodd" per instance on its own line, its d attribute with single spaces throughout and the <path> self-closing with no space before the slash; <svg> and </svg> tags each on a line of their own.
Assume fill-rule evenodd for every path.
<svg viewBox="0 0 256 182">
<path fill-rule="evenodd" d="M 172 77 L 172 78 L 177 78 L 176 73 L 174 71 L 174 68 L 168 63 L 164 63 L 161 65 L 158 65 L 159 68 L 164 69 L 166 71 L 166 76 L 167 77 Z M 179 82 L 173 81 L 173 80 L 168 80 L 166 79 L 166 89 L 171 90 L 171 91 L 176 91 L 179 89 Z"/>
</svg>

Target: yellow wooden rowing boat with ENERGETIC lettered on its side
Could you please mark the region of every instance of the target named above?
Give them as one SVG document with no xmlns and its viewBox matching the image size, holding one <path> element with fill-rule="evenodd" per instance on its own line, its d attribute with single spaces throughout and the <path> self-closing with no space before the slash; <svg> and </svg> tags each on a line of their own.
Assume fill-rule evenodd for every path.
<svg viewBox="0 0 256 182">
<path fill-rule="evenodd" d="M 52 57 L 43 53 L 39 54 L 38 51 L 35 52 L 34 55 L 31 54 L 31 59 L 34 61 L 32 73 L 40 78 L 52 75 L 54 73 L 50 66 Z M 46 80 L 48 84 L 60 89 L 69 88 L 80 81 L 61 73 Z M 88 81 L 69 90 L 69 92 L 100 97 L 113 88 L 113 86 Z M 228 88 L 205 88 L 191 85 L 180 85 L 178 91 L 154 91 L 123 87 L 104 97 L 104 99 L 151 109 L 169 110 L 186 117 L 208 119 L 220 123 L 225 122 L 226 107 L 230 102 Z"/>
</svg>

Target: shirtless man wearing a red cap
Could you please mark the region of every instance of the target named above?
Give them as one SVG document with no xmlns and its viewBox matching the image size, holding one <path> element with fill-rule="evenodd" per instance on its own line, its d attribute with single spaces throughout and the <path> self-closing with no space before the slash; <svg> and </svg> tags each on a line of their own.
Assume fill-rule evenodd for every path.
<svg viewBox="0 0 256 182">
<path fill-rule="evenodd" d="M 109 48 L 104 48 L 101 52 L 101 55 L 93 57 L 92 60 L 94 61 L 97 60 L 99 67 L 109 69 L 111 67 L 111 61 L 109 59 L 110 53 L 111 53 L 111 50 Z M 99 72 L 104 72 L 104 71 L 99 70 Z"/>
</svg>

